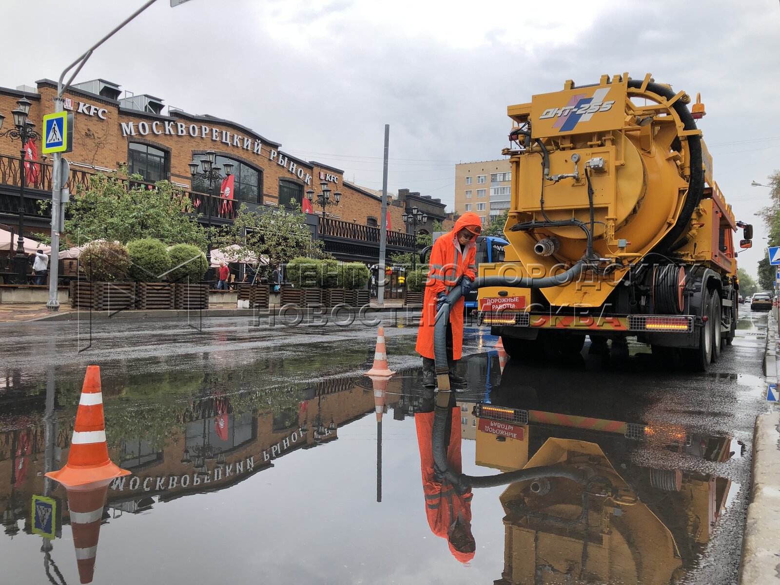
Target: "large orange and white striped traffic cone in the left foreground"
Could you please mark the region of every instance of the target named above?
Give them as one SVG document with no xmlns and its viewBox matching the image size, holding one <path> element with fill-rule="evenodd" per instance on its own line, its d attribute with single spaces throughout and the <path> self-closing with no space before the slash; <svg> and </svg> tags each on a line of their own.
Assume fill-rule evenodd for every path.
<svg viewBox="0 0 780 585">
<path fill-rule="evenodd" d="M 112 480 L 129 475 L 129 471 L 115 466 L 108 459 L 103 418 L 103 393 L 100 384 L 100 367 L 88 366 L 81 388 L 79 410 L 70 441 L 68 463 L 59 471 L 50 471 L 46 477 L 58 481 L 66 488 Z"/>
</svg>

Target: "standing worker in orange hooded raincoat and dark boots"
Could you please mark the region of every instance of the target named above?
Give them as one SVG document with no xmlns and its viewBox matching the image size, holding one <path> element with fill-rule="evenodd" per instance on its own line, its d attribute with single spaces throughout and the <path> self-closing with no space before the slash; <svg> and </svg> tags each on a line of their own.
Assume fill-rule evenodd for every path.
<svg viewBox="0 0 780 585">
<path fill-rule="evenodd" d="M 447 294 L 456 286 L 466 296 L 474 278 L 477 277 L 477 236 L 482 231 L 480 217 L 466 211 L 458 218 L 452 231 L 434 242 L 431 250 L 431 269 L 425 283 L 423 316 L 417 332 L 417 353 L 423 356 L 423 385 L 434 388 L 434 325 L 436 314 L 444 303 L 449 303 Z M 450 308 L 447 324 L 447 362 L 449 382 L 452 388 L 463 388 L 466 378 L 456 373 L 456 365 L 463 348 L 463 296 Z"/>
</svg>

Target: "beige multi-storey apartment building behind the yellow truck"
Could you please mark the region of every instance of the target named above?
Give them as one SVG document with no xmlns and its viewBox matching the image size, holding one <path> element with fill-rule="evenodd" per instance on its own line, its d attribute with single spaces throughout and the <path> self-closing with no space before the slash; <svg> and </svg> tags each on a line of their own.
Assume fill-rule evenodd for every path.
<svg viewBox="0 0 780 585">
<path fill-rule="evenodd" d="M 473 211 L 488 225 L 509 209 L 512 172 L 509 159 L 455 165 L 455 211 Z"/>
</svg>

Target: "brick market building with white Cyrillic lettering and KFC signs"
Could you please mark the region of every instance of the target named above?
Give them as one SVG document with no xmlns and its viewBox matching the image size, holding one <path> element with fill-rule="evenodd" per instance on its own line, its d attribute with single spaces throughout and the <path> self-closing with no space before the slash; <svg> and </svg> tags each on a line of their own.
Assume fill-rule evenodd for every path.
<svg viewBox="0 0 780 585">
<path fill-rule="evenodd" d="M 43 116 L 54 111 L 57 84 L 45 79 L 36 83 L 37 87 L 16 90 L 0 87 L 0 114 L 8 115 L 17 107 L 16 101 L 26 98 L 31 102 L 28 119 L 41 129 Z M 67 185 L 71 192 L 85 186 L 94 173 L 126 168 L 146 183 L 165 179 L 186 193 L 198 193 L 198 204 L 204 202 L 198 210 L 200 222 L 229 223 L 238 206 L 222 205 L 219 185 L 193 179 L 190 173 L 191 161 L 199 162 L 207 151 L 214 151 L 216 165 L 232 165 L 232 198 L 251 211 L 294 207 L 302 204 L 307 191 L 314 190 L 314 207 L 307 222 L 313 236 L 324 240 L 324 250 L 342 260 L 376 261 L 381 216 L 377 192 L 349 183 L 339 168 L 289 154 L 281 143 L 237 122 L 166 108 L 161 98 L 150 94 L 121 95 L 119 85 L 108 80 L 76 83 L 64 94 L 66 111 L 73 112 L 73 151 L 65 155 L 71 168 Z M 21 147 L 18 141 L 0 140 L 0 223 L 11 228 L 19 207 Z M 37 161 L 35 172 L 26 172 L 25 236 L 50 230 L 51 219 L 41 215 L 38 201 L 51 198 L 51 160 L 39 156 L 39 148 L 40 143 L 31 153 Z M 323 190 L 338 190 L 339 203 L 317 206 L 316 198 Z M 413 250 L 415 237 L 403 214 L 413 205 L 420 207 L 417 199 L 436 207 L 436 218 L 441 216 L 446 226 L 444 204 L 419 197 L 419 193 L 411 195 L 388 197 L 388 255 Z"/>
</svg>

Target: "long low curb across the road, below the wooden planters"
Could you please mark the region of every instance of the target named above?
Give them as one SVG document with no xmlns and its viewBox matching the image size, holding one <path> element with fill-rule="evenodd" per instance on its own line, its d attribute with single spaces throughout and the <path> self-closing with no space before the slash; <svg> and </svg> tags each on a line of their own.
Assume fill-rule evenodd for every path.
<svg viewBox="0 0 780 585">
<path fill-rule="evenodd" d="M 347 311 L 349 311 L 347 313 Z M 190 317 L 199 319 L 200 317 L 269 317 L 275 315 L 276 317 L 293 318 L 295 315 L 301 317 L 334 317 L 336 319 L 342 319 L 347 314 L 356 315 L 372 315 L 377 313 L 393 313 L 399 315 L 409 314 L 410 316 L 419 316 L 420 309 L 418 308 L 406 308 L 406 307 L 350 307 L 346 309 L 344 307 L 333 312 L 332 309 L 326 308 L 298 308 L 290 307 L 283 310 L 282 307 L 275 307 L 272 309 L 204 309 L 204 310 L 94 310 L 94 311 L 65 311 L 57 312 L 50 315 L 44 315 L 42 317 L 34 317 L 24 321 L 26 323 L 31 322 L 43 322 L 43 321 L 87 321 L 90 318 L 93 320 L 105 320 L 105 319 L 160 319 L 160 318 L 176 318 L 176 317 Z"/>
</svg>

